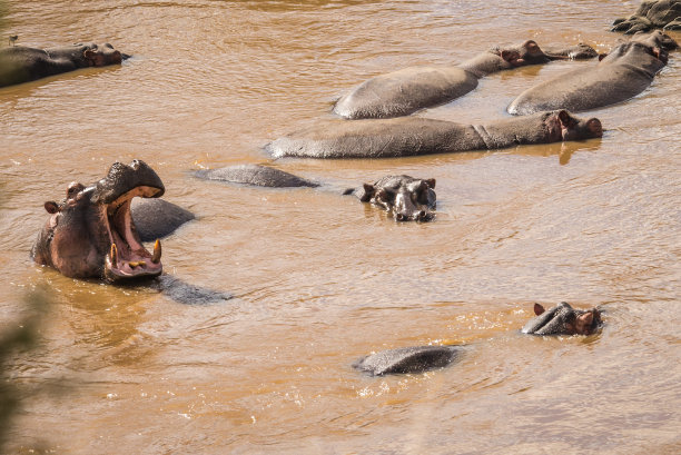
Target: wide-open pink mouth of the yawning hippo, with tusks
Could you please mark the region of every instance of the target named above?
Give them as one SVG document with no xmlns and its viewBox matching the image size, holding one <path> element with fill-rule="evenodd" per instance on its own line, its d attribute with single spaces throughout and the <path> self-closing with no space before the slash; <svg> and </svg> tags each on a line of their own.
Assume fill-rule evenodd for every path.
<svg viewBox="0 0 681 455">
<path fill-rule="evenodd" d="M 130 202 L 134 197 L 157 197 L 161 190 L 155 187 L 138 186 L 102 205 L 102 218 L 109 234 L 109 253 L 105 261 L 105 277 L 111 281 L 138 277 L 154 277 L 161 274 L 161 245 L 156 240 L 154 254 L 147 251 L 137 234 Z"/>
</svg>

